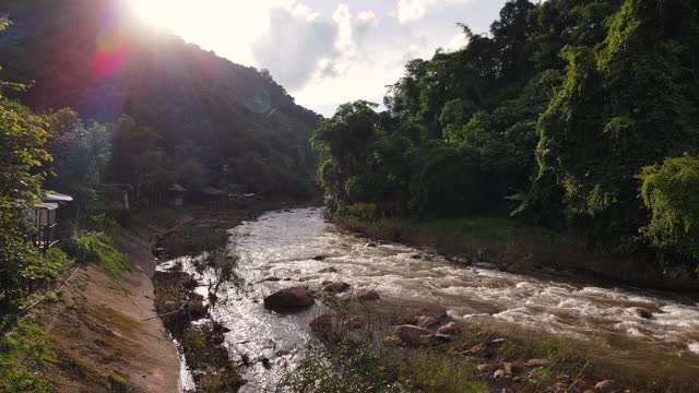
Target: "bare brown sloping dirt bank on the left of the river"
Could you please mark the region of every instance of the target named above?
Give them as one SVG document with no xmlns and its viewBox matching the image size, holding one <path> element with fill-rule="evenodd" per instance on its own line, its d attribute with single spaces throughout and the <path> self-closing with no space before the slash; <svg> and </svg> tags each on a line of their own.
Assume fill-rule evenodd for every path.
<svg viewBox="0 0 699 393">
<path fill-rule="evenodd" d="M 179 358 L 154 311 L 150 240 L 119 231 L 115 240 L 133 271 L 111 278 L 95 266 L 82 269 L 61 300 L 43 306 L 37 320 L 52 335 L 59 361 L 57 392 L 115 391 L 126 377 L 132 392 L 178 392 Z"/>
</svg>

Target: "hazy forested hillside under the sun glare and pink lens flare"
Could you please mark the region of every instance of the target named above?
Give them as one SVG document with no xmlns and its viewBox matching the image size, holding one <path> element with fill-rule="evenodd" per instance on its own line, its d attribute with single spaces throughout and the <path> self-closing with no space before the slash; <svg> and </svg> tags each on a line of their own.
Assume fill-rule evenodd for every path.
<svg viewBox="0 0 699 393">
<path fill-rule="evenodd" d="M 60 111 L 49 121 L 59 156 L 80 157 L 78 169 L 102 163 L 93 165 L 100 172 L 75 175 L 75 162 L 58 157 L 47 167 L 64 178 L 54 189 L 80 193 L 73 179 L 129 183 L 140 205 L 161 201 L 175 181 L 190 191 L 312 192 L 308 138 L 319 116 L 269 72 L 147 27 L 121 0 L 2 0 L 0 11 L 11 22 L 0 80 L 28 85 L 11 96 L 36 112 Z"/>
</svg>

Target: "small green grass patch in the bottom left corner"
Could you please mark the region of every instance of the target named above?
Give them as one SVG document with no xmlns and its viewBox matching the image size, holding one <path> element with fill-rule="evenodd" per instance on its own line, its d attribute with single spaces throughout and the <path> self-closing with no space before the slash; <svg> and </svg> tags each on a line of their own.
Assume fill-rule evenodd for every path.
<svg viewBox="0 0 699 393">
<path fill-rule="evenodd" d="M 49 335 L 32 315 L 21 318 L 0 338 L 0 392 L 49 392 L 50 384 L 42 371 L 55 358 Z"/>
</svg>

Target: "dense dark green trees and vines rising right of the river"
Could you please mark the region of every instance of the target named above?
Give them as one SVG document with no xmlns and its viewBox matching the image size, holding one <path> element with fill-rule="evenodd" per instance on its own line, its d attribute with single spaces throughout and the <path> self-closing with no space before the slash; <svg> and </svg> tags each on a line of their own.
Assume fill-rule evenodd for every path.
<svg viewBox="0 0 699 393">
<path fill-rule="evenodd" d="M 699 3 L 528 0 L 413 60 L 386 111 L 313 136 L 330 209 L 363 219 L 505 215 L 590 250 L 699 260 Z"/>
</svg>

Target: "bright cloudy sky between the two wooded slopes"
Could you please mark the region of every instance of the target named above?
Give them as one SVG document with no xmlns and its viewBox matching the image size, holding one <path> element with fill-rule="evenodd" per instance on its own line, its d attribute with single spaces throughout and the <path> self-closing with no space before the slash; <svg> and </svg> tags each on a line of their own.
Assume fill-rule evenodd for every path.
<svg viewBox="0 0 699 393">
<path fill-rule="evenodd" d="M 405 63 L 486 33 L 506 0 L 131 0 L 144 22 L 236 63 L 268 69 L 296 103 L 332 116 L 381 103 Z"/>
</svg>

